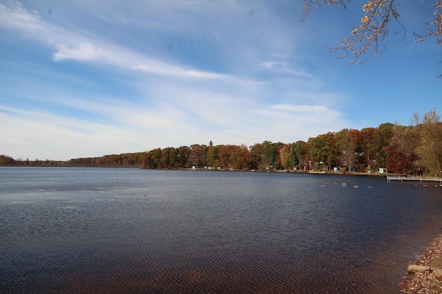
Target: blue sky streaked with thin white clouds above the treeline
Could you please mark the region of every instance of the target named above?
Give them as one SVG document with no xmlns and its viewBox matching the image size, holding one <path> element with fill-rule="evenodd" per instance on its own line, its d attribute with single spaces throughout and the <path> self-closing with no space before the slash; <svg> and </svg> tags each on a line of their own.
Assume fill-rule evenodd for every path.
<svg viewBox="0 0 442 294">
<path fill-rule="evenodd" d="M 392 25 L 382 56 L 349 66 L 326 46 L 358 3 L 302 23 L 301 1 L 0 1 L 0 154 L 292 143 L 440 114 L 441 45 L 412 35 L 431 4 L 403 3 L 405 39 Z"/>
</svg>

